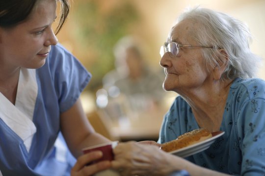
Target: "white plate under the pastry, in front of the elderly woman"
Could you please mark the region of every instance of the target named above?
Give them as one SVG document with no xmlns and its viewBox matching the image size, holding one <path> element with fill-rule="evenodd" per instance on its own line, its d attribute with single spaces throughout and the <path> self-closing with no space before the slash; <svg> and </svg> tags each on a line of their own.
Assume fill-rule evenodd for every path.
<svg viewBox="0 0 265 176">
<path fill-rule="evenodd" d="M 220 131 L 220 132 L 212 132 L 212 137 L 209 139 L 206 139 L 205 141 L 202 142 L 198 142 L 196 144 L 187 146 L 185 148 L 182 149 L 178 149 L 172 152 L 169 152 L 170 154 L 175 154 L 177 156 L 180 157 L 187 157 L 190 156 L 192 154 L 197 154 L 199 152 L 202 152 L 206 149 L 208 149 L 212 143 L 215 141 L 215 139 L 217 139 L 218 137 L 220 137 L 221 135 L 223 135 L 224 132 Z"/>
</svg>

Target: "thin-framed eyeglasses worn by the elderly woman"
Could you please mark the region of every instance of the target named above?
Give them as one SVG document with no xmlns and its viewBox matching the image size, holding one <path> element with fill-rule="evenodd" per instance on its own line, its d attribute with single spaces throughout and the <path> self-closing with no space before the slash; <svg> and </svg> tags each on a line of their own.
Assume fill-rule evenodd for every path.
<svg viewBox="0 0 265 176">
<path fill-rule="evenodd" d="M 167 45 L 162 45 L 160 47 L 160 56 L 163 57 L 163 55 L 166 52 L 170 52 L 170 57 L 174 58 L 178 55 L 180 51 L 180 47 L 200 47 L 200 48 L 215 48 L 214 46 L 208 46 L 208 45 L 192 45 L 192 44 L 178 44 L 176 42 L 171 42 Z"/>
</svg>

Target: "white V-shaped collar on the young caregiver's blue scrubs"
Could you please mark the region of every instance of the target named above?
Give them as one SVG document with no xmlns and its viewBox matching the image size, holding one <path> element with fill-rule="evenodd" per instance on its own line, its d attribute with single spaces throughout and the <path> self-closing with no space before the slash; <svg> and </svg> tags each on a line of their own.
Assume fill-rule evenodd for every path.
<svg viewBox="0 0 265 176">
<path fill-rule="evenodd" d="M 0 118 L 24 141 L 27 152 L 30 149 L 36 127 L 32 122 L 38 86 L 36 70 L 21 68 L 17 97 L 13 105 L 0 93 Z"/>
</svg>

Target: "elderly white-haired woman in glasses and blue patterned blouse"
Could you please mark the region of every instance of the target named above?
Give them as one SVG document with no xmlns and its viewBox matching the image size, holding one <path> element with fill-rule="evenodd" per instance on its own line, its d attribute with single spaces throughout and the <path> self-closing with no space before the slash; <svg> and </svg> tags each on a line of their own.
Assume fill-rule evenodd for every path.
<svg viewBox="0 0 265 176">
<path fill-rule="evenodd" d="M 195 8 L 181 15 L 160 50 L 163 88 L 180 96 L 164 117 L 158 143 L 198 128 L 225 134 L 186 158 L 121 143 L 112 167 L 139 176 L 180 170 L 191 176 L 264 176 L 265 81 L 253 78 L 261 59 L 250 51 L 249 38 L 242 22 L 223 13 Z"/>
</svg>

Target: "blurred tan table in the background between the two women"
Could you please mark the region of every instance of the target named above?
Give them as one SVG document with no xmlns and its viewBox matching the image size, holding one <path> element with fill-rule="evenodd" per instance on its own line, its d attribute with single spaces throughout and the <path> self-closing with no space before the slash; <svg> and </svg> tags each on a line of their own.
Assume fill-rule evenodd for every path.
<svg viewBox="0 0 265 176">
<path fill-rule="evenodd" d="M 165 112 L 165 109 L 157 107 L 113 120 L 107 111 L 99 110 L 99 116 L 107 126 L 110 135 L 116 140 L 158 140 Z"/>
</svg>

